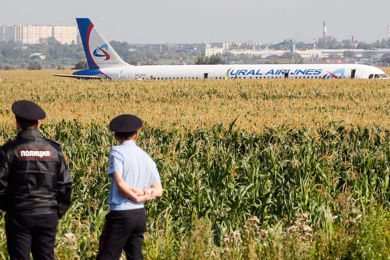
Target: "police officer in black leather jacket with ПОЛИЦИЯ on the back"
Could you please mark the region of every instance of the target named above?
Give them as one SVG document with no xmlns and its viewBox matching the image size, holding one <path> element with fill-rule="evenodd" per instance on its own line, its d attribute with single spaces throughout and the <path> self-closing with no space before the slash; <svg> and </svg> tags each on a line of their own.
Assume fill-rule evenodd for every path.
<svg viewBox="0 0 390 260">
<path fill-rule="evenodd" d="M 12 104 L 17 136 L 0 149 L 0 209 L 10 259 L 54 259 L 58 218 L 70 204 L 71 177 L 59 144 L 42 138 L 37 104 Z"/>
</svg>

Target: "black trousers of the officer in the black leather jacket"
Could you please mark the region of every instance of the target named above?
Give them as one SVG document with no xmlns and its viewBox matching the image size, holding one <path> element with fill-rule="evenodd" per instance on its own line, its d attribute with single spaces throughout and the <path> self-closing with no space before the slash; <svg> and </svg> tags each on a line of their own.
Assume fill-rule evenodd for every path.
<svg viewBox="0 0 390 260">
<path fill-rule="evenodd" d="M 58 213 L 5 214 L 5 234 L 11 260 L 54 259 Z"/>
</svg>

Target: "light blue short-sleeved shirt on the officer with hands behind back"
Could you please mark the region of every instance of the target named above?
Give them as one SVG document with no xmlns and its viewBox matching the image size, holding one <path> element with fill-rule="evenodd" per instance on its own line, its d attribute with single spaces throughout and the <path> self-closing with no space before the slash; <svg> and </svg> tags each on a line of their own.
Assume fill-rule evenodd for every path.
<svg viewBox="0 0 390 260">
<path fill-rule="evenodd" d="M 115 171 L 122 173 L 122 178 L 129 187 L 149 188 L 151 184 L 161 182 L 155 162 L 134 141 L 127 140 L 120 145 L 113 146 L 108 161 L 108 176 L 111 178 L 111 185 L 107 202 L 110 210 L 143 207 L 143 202 L 135 203 L 120 195 L 112 176 Z"/>
</svg>

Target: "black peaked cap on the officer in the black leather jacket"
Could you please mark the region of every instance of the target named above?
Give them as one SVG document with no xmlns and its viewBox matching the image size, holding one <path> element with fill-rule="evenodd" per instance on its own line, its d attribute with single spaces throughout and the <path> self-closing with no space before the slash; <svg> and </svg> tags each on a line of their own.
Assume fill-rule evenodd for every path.
<svg viewBox="0 0 390 260">
<path fill-rule="evenodd" d="M 41 120 L 46 117 L 46 113 L 39 105 L 28 100 L 14 102 L 11 109 L 15 115 L 27 120 Z"/>
</svg>

